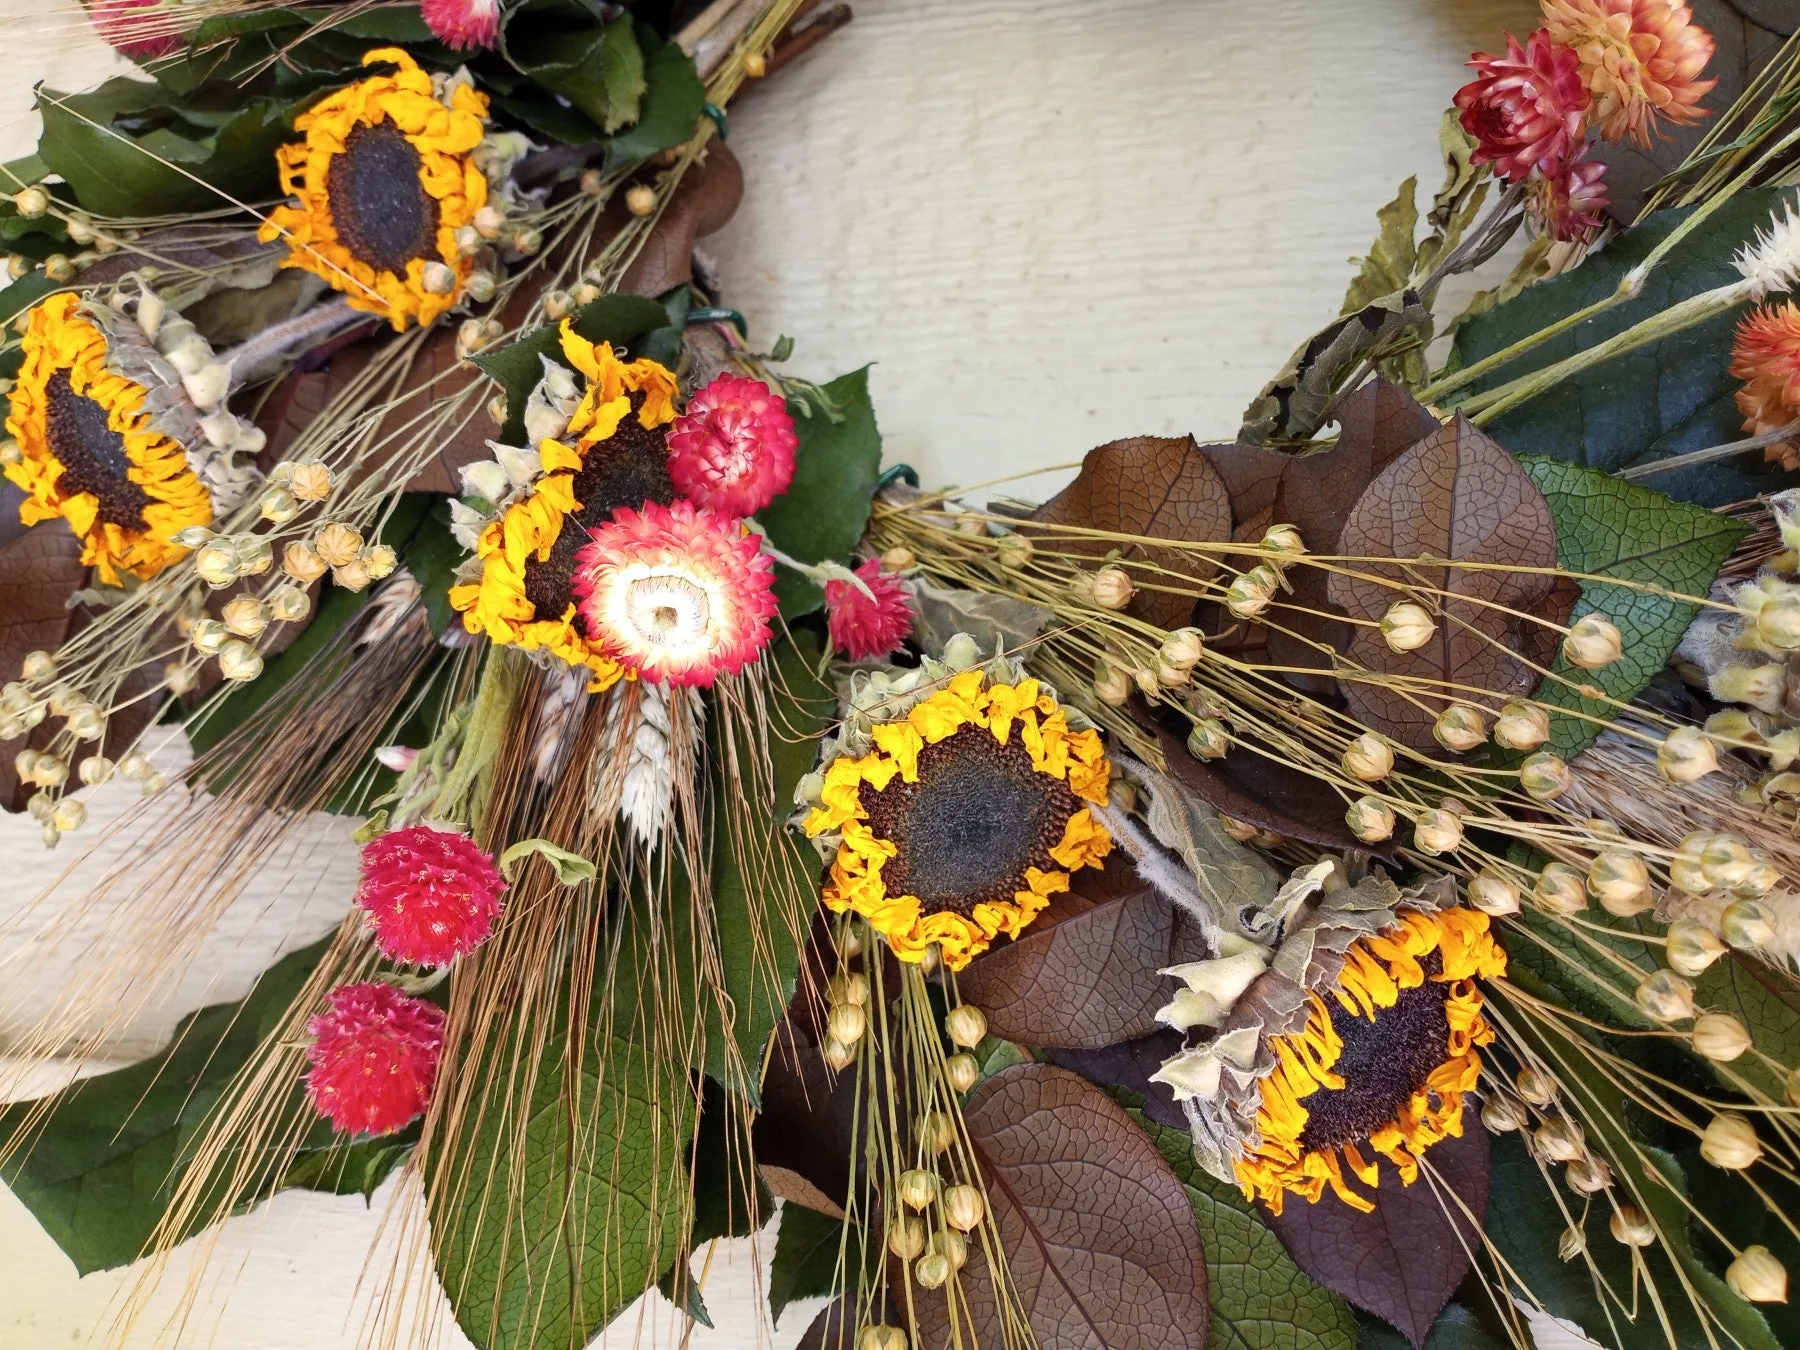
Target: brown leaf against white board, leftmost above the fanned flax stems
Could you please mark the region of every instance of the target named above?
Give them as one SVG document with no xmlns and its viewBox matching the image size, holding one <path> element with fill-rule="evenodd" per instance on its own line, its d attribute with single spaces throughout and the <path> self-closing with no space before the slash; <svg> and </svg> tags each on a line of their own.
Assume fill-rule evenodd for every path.
<svg viewBox="0 0 1800 1350">
<path fill-rule="evenodd" d="M 1231 497 L 1192 436 L 1132 436 L 1087 452 L 1082 472 L 1067 488 L 1037 509 L 1033 520 L 1082 529 L 1111 529 L 1186 542 L 1231 538 Z M 1114 545 L 1107 540 L 1058 540 L 1058 549 L 1100 558 Z M 1129 547 L 1125 560 L 1138 560 L 1190 578 L 1197 587 L 1217 567 L 1179 549 Z M 1129 614 L 1161 628 L 1181 628 L 1193 614 L 1192 596 L 1148 590 L 1175 578 L 1139 574 L 1138 596 Z"/>
</svg>

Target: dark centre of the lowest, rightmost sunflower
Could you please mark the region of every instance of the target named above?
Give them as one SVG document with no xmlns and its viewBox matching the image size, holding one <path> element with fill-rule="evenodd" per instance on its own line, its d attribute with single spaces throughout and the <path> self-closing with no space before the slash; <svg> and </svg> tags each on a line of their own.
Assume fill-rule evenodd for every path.
<svg viewBox="0 0 1800 1350">
<path fill-rule="evenodd" d="M 1402 1105 L 1444 1064 L 1451 1022 L 1444 1012 L 1449 985 L 1436 983 L 1444 963 L 1436 952 L 1418 959 L 1426 983 L 1402 988 L 1391 1008 L 1377 1008 L 1375 1021 L 1345 1012 L 1325 995 L 1332 1030 L 1345 1048 L 1332 1069 L 1343 1075 L 1339 1089 L 1321 1087 L 1305 1100 L 1307 1129 L 1301 1148 L 1339 1148 L 1359 1143 L 1393 1121 Z"/>
</svg>

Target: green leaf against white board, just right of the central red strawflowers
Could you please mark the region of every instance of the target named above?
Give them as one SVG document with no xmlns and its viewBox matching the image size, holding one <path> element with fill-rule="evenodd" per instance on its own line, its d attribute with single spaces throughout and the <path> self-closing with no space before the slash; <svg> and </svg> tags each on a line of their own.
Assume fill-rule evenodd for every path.
<svg viewBox="0 0 1800 1350">
<path fill-rule="evenodd" d="M 835 421 L 832 409 L 788 400 L 799 432 L 794 482 L 756 515 L 774 545 L 803 563 L 850 560 L 869 524 L 882 464 L 869 369 L 841 374 L 823 392 Z M 788 567 L 776 569 L 776 596 L 788 621 L 824 605 L 824 590 Z"/>
</svg>

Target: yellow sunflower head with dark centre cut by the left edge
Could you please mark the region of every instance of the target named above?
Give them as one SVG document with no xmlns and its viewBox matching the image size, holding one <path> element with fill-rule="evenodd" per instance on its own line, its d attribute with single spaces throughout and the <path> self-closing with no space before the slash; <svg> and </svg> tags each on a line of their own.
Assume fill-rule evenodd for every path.
<svg viewBox="0 0 1800 1350">
<path fill-rule="evenodd" d="M 61 517 L 81 562 L 108 585 L 149 578 L 184 558 L 171 536 L 212 522 L 212 497 L 187 450 L 153 430 L 148 391 L 106 364 L 106 335 L 81 299 L 52 295 L 31 311 L 7 432 L 20 459 L 5 475 L 25 490 L 20 520 Z"/>
</svg>

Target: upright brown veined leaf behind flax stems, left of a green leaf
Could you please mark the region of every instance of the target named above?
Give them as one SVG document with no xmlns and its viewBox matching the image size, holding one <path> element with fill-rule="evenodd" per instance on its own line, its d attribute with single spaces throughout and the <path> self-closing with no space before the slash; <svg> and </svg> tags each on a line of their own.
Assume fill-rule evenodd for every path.
<svg viewBox="0 0 1800 1350">
<path fill-rule="evenodd" d="M 1557 565 L 1555 524 L 1519 461 L 1467 418 L 1440 427 L 1370 482 L 1345 520 L 1337 551 L 1352 558 L 1429 556 L 1492 565 L 1471 571 L 1409 563 L 1402 574 L 1395 565 L 1357 563 L 1357 574 L 1330 576 L 1332 603 L 1372 623 L 1404 598 L 1375 576 L 1444 592 L 1436 598 L 1436 634 L 1417 652 L 1393 652 L 1375 626 L 1352 634 L 1348 655 L 1366 670 L 1433 686 L 1408 695 L 1339 680 L 1361 722 L 1413 749 L 1438 751 L 1431 724 L 1451 700 L 1471 697 L 1467 689 L 1507 698 L 1537 684 L 1537 673 L 1517 655 L 1526 621 L 1507 610 L 1532 614 L 1555 589 L 1548 571 L 1514 571 Z"/>
</svg>

